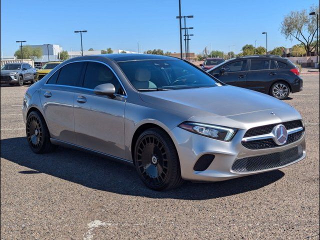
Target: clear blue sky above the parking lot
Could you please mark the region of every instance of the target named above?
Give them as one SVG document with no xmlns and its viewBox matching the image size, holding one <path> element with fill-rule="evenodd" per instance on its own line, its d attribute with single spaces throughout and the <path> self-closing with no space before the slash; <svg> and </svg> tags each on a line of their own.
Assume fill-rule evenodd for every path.
<svg viewBox="0 0 320 240">
<path fill-rule="evenodd" d="M 212 49 L 235 52 L 250 43 L 268 49 L 291 46 L 279 25 L 291 10 L 308 8 L 318 0 L 181 0 L 181 14 L 193 26 L 190 51 Z M 1 50 L 13 55 L 15 40 L 26 44 L 59 44 L 64 50 L 80 50 L 79 33 L 85 29 L 83 48 L 137 51 L 161 48 L 179 52 L 178 0 L 1 0 Z M 233 46 L 231 47 L 231 50 Z"/>
</svg>

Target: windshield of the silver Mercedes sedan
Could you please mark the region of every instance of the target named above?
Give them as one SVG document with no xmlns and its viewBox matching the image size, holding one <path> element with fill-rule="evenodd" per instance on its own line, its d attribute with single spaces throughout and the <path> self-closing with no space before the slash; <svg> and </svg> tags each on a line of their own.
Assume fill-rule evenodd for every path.
<svg viewBox="0 0 320 240">
<path fill-rule="evenodd" d="M 196 66 L 182 60 L 136 60 L 118 62 L 118 65 L 140 91 L 173 90 L 219 85 Z"/>
</svg>

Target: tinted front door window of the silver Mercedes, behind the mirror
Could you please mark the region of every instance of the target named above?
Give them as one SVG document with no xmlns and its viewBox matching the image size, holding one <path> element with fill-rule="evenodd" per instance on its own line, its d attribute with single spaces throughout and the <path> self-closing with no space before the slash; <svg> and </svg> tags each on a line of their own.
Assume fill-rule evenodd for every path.
<svg viewBox="0 0 320 240">
<path fill-rule="evenodd" d="M 102 63 L 89 61 L 84 74 L 83 87 L 94 89 L 103 83 L 112 83 L 115 87 L 115 93 L 124 94 L 120 82 L 109 67 Z"/>
</svg>

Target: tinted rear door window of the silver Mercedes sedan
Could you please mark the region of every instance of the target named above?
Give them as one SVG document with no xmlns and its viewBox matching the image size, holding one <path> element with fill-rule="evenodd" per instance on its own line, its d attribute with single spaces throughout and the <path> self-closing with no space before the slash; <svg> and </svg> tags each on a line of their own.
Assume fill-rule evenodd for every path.
<svg viewBox="0 0 320 240">
<path fill-rule="evenodd" d="M 84 62 L 73 62 L 62 66 L 56 84 L 76 86 L 79 84 Z"/>
</svg>

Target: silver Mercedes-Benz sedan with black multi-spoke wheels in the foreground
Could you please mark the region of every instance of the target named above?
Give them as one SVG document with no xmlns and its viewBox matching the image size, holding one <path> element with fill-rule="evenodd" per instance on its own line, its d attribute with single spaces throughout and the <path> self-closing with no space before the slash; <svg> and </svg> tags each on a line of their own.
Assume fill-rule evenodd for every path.
<svg viewBox="0 0 320 240">
<path fill-rule="evenodd" d="M 305 157 L 305 128 L 293 107 L 168 56 L 69 59 L 26 90 L 22 113 L 33 152 L 63 145 L 133 164 L 155 190 Z"/>
</svg>

